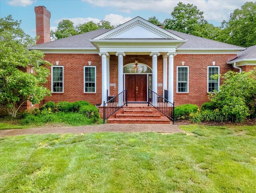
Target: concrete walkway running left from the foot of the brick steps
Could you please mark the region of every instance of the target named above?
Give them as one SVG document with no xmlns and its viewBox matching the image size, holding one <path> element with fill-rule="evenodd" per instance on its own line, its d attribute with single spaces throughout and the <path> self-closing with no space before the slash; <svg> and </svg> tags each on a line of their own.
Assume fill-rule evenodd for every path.
<svg viewBox="0 0 256 193">
<path fill-rule="evenodd" d="M 16 136 L 26 134 L 64 134 L 64 133 L 94 133 L 94 132 L 160 132 L 176 133 L 184 132 L 173 124 L 101 124 L 80 127 L 60 128 L 31 128 L 0 130 L 0 136 Z"/>
</svg>

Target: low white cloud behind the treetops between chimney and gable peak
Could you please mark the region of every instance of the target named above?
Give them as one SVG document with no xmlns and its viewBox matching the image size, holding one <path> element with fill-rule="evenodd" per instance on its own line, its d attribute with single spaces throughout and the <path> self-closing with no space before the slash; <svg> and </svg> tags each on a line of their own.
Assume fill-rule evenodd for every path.
<svg viewBox="0 0 256 193">
<path fill-rule="evenodd" d="M 107 14 L 103 20 L 110 22 L 111 25 L 116 26 L 118 24 L 123 24 L 124 22 L 127 22 L 131 20 L 132 18 L 130 17 L 124 17 L 118 14 Z M 54 23 L 58 24 L 62 20 L 70 20 L 74 23 L 74 26 L 77 26 L 78 24 L 84 24 L 86 22 L 94 22 L 94 23 L 99 23 L 100 20 L 98 18 L 60 18 L 58 20 L 55 20 Z M 51 27 L 51 28 L 56 28 L 56 27 Z"/>
</svg>

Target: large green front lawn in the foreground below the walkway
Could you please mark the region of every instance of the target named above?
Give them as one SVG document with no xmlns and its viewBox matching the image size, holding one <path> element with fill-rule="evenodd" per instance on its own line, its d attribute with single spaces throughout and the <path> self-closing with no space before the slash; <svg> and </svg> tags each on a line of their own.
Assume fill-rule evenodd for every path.
<svg viewBox="0 0 256 193">
<path fill-rule="evenodd" d="M 0 192 L 256 192 L 256 126 L 180 127 L 0 138 Z"/>
</svg>

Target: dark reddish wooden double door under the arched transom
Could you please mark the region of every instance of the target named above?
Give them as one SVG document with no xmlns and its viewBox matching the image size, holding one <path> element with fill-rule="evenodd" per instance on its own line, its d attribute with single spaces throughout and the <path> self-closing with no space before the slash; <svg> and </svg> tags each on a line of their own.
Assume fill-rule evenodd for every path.
<svg viewBox="0 0 256 193">
<path fill-rule="evenodd" d="M 125 75 L 128 102 L 147 101 L 147 75 Z"/>
</svg>

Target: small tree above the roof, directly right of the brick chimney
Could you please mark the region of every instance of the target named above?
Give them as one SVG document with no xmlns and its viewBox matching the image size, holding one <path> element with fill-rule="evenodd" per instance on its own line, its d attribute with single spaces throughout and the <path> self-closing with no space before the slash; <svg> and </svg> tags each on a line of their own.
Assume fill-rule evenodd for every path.
<svg viewBox="0 0 256 193">
<path fill-rule="evenodd" d="M 61 39 L 76 34 L 78 34 L 78 32 L 74 28 L 74 23 L 70 20 L 62 20 L 61 22 L 59 22 L 56 32 L 53 32 L 51 30 L 51 37 L 53 39 Z"/>
</svg>

